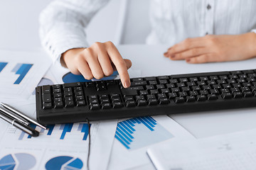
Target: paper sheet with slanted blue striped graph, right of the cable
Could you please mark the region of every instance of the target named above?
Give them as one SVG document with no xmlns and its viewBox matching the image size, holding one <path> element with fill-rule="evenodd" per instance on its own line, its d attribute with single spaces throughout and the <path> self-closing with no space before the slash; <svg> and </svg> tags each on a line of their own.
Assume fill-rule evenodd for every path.
<svg viewBox="0 0 256 170">
<path fill-rule="evenodd" d="M 117 124 L 108 169 L 132 169 L 150 164 L 146 149 L 164 141 L 193 140 L 194 137 L 167 115 L 122 120 Z"/>
</svg>

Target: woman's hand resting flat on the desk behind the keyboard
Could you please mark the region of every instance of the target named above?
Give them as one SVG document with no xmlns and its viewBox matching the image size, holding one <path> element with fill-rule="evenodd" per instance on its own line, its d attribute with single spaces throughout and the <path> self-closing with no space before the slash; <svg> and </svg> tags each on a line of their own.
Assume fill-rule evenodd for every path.
<svg viewBox="0 0 256 170">
<path fill-rule="evenodd" d="M 246 60 L 256 56 L 256 34 L 206 35 L 188 38 L 164 53 L 171 60 L 188 63 L 227 62 Z"/>
</svg>

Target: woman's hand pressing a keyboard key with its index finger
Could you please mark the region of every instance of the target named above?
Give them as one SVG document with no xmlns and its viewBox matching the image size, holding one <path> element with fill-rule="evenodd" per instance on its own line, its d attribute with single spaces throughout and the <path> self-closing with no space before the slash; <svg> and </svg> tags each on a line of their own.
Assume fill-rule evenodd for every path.
<svg viewBox="0 0 256 170">
<path fill-rule="evenodd" d="M 130 60 L 124 60 L 112 42 L 95 42 L 87 48 L 76 48 L 63 53 L 60 62 L 73 74 L 82 74 L 85 79 L 102 79 L 117 69 L 122 85 L 131 85 L 127 69 L 132 66 Z"/>
</svg>

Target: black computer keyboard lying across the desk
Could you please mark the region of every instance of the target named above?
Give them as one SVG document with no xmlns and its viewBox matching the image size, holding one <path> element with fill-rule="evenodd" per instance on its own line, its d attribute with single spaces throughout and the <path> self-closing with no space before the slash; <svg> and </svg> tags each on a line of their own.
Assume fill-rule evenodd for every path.
<svg viewBox="0 0 256 170">
<path fill-rule="evenodd" d="M 36 87 L 43 124 L 216 111 L 256 106 L 256 69 Z"/>
</svg>

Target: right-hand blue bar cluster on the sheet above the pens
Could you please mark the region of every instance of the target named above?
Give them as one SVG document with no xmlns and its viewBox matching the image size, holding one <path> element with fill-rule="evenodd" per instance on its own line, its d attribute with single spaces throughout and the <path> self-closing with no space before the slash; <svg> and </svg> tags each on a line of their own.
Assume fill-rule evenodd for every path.
<svg viewBox="0 0 256 170">
<path fill-rule="evenodd" d="M 18 79 L 16 79 L 14 84 L 20 84 L 32 66 L 33 64 L 16 64 L 16 66 L 14 67 L 14 69 L 11 70 L 11 72 L 15 72 L 15 74 L 19 74 L 20 76 L 18 77 Z"/>
</svg>

